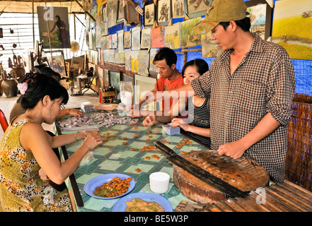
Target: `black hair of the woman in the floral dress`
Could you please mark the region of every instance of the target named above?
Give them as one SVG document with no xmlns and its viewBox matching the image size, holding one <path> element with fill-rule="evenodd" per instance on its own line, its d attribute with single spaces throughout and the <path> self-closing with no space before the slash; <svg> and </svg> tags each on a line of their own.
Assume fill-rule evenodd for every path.
<svg viewBox="0 0 312 226">
<path fill-rule="evenodd" d="M 38 102 L 49 95 L 51 100 L 62 98 L 62 104 L 69 100 L 67 89 L 60 85 L 54 78 L 42 73 L 28 73 L 21 83 L 27 83 L 28 88 L 21 97 L 21 105 L 24 109 L 33 109 Z"/>
</svg>

